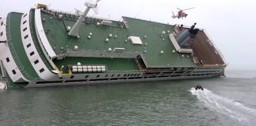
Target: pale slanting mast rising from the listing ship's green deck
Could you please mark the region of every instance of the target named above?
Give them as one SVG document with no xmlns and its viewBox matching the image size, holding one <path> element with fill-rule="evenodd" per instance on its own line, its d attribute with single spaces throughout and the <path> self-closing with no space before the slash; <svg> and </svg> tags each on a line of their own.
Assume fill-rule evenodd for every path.
<svg viewBox="0 0 256 126">
<path fill-rule="evenodd" d="M 70 32 L 68 32 L 68 36 L 76 36 L 76 37 L 78 37 L 79 28 L 82 25 L 83 20 L 86 17 L 86 15 L 88 14 L 89 10 L 92 8 L 96 14 L 99 13 L 98 10 L 97 10 L 97 3 L 99 1 L 100 0 L 96 0 L 96 2 L 87 1 L 87 2 L 84 3 L 84 5 L 87 8 L 84 10 L 84 13 L 80 16 L 80 18 L 76 21 L 75 25 L 72 27 Z"/>
</svg>

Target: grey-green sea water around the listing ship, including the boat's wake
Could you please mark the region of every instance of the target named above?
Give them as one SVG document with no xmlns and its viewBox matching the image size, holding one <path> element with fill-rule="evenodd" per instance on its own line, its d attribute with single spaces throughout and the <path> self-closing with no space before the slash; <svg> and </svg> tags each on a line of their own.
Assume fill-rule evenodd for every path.
<svg viewBox="0 0 256 126">
<path fill-rule="evenodd" d="M 0 125 L 256 125 L 255 73 L 2 89 Z M 204 90 L 195 90 L 197 84 Z"/>
</svg>

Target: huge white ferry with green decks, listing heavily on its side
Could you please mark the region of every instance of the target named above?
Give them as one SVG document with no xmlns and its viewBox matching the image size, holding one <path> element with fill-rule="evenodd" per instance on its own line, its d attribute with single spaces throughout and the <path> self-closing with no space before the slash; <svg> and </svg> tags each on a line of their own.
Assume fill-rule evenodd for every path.
<svg viewBox="0 0 256 126">
<path fill-rule="evenodd" d="M 224 76 L 223 55 L 204 29 L 49 10 L 0 19 L 1 88 Z"/>
</svg>

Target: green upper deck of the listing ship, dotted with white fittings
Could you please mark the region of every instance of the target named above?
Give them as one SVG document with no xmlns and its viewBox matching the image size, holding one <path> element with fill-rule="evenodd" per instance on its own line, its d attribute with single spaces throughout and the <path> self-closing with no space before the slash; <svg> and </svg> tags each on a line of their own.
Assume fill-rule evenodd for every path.
<svg viewBox="0 0 256 126">
<path fill-rule="evenodd" d="M 73 26 L 75 21 L 56 19 L 52 14 L 41 12 L 43 21 L 43 27 L 46 33 L 46 37 L 51 44 L 51 47 L 56 49 L 55 53 L 62 54 L 65 53 L 61 48 L 64 49 L 66 46 L 70 50 L 73 50 L 74 46 L 77 45 L 80 50 L 96 50 L 96 51 L 107 51 L 109 48 L 125 48 L 126 52 L 140 52 L 144 56 L 145 63 L 148 67 L 196 67 L 191 58 L 187 58 L 190 54 L 187 53 L 172 53 L 175 50 L 171 40 L 169 39 L 169 34 L 174 32 L 172 25 L 160 24 L 157 22 L 151 22 L 146 20 L 134 19 L 123 17 L 124 20 L 129 25 L 129 28 L 120 28 L 113 26 L 96 26 L 95 24 L 84 23 L 80 27 L 79 36 L 80 38 L 68 36 L 67 26 Z M 114 22 L 114 21 L 113 21 Z M 162 31 L 166 33 L 161 37 Z M 167 33 L 170 31 L 170 33 Z M 88 39 L 89 33 L 92 33 L 92 37 Z M 109 38 L 109 35 L 113 36 Z M 117 36 L 114 38 L 114 36 Z M 140 37 L 143 42 L 142 45 L 133 45 L 131 41 L 125 42 L 126 38 L 129 36 Z M 147 36 L 144 38 L 144 36 Z M 105 42 L 108 38 L 109 41 Z M 164 39 L 164 41 L 163 41 Z M 145 43 L 147 43 L 145 45 Z M 144 49 L 145 48 L 145 49 Z M 146 50 L 146 53 L 144 51 Z M 163 54 L 160 52 L 163 51 Z M 184 55 L 182 58 L 181 55 Z M 77 58 L 77 62 L 80 62 L 83 58 Z M 100 59 L 103 59 L 100 61 Z M 76 59 L 74 59 L 76 60 Z M 93 58 L 95 62 L 99 61 L 99 64 L 104 64 L 104 58 Z M 113 60 L 113 59 L 112 59 Z M 131 59 L 130 59 L 131 60 Z M 60 63 L 63 65 L 68 65 L 65 61 L 54 61 L 55 63 Z M 92 61 L 93 62 L 93 61 Z M 102 62 L 102 63 L 100 63 Z M 107 61 L 108 62 L 108 61 Z M 116 60 L 116 64 L 123 64 L 122 60 Z M 87 63 L 86 63 L 87 64 Z M 128 66 L 135 64 L 135 61 Z M 116 66 L 119 67 L 119 66 Z M 117 70 L 126 70 L 122 68 L 116 68 Z M 112 69 L 112 68 L 110 68 Z M 134 68 L 131 67 L 133 70 Z M 137 68 L 136 68 L 137 69 Z M 114 70 L 114 69 L 113 69 Z"/>
</svg>

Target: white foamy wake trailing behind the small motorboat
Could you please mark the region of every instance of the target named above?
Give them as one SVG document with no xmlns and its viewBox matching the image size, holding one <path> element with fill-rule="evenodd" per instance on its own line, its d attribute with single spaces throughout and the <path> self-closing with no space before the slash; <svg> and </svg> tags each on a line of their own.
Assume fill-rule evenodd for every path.
<svg viewBox="0 0 256 126">
<path fill-rule="evenodd" d="M 252 116 L 256 116 L 256 110 L 248 108 L 233 99 L 216 95 L 208 89 L 204 88 L 202 91 L 191 88 L 190 91 L 192 95 L 196 95 L 203 102 L 205 107 L 230 116 L 242 123 L 249 123 L 252 120 Z"/>
</svg>

